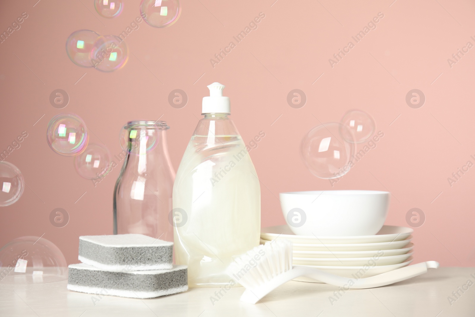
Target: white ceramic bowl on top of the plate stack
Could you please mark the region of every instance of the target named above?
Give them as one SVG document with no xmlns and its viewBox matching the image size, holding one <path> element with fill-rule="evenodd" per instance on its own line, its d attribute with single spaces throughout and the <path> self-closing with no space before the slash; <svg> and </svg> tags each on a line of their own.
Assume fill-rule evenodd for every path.
<svg viewBox="0 0 475 317">
<path fill-rule="evenodd" d="M 313 191 L 282 192 L 285 221 L 301 236 L 369 236 L 382 228 L 389 192 Z"/>
</svg>

